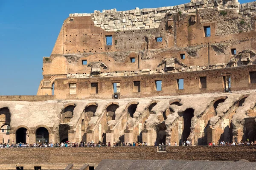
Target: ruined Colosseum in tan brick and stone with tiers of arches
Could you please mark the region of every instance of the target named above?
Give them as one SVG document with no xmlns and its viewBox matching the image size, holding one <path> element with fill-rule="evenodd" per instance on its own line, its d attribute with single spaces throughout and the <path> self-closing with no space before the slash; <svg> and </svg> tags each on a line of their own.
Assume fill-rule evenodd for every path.
<svg viewBox="0 0 256 170">
<path fill-rule="evenodd" d="M 70 14 L 4 142 L 256 141 L 256 2 Z"/>
</svg>

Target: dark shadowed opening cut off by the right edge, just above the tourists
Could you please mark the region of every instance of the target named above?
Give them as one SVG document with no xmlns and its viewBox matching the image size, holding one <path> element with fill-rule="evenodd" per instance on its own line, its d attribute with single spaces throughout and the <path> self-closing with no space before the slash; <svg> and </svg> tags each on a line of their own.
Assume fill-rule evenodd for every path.
<svg viewBox="0 0 256 170">
<path fill-rule="evenodd" d="M 247 142 L 247 139 L 249 139 L 249 142 L 256 141 L 256 122 L 253 117 L 245 118 L 244 119 L 244 135 L 243 135 L 243 142 Z M 240 141 L 238 141 L 240 142 Z"/>
</svg>

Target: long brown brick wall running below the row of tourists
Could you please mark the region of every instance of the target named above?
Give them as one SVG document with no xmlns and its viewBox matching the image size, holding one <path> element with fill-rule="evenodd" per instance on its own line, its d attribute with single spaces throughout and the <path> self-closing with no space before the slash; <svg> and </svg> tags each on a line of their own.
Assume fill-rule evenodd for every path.
<svg viewBox="0 0 256 170">
<path fill-rule="evenodd" d="M 166 153 L 157 152 L 157 147 L 1 148 L 0 151 L 0 164 L 99 164 L 103 159 L 256 161 L 253 146 L 167 147 Z"/>
</svg>

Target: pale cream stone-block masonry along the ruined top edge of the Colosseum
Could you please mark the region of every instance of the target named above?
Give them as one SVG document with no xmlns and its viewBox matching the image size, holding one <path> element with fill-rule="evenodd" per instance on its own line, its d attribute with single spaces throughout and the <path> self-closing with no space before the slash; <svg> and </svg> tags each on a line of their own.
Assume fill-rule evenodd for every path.
<svg viewBox="0 0 256 170">
<path fill-rule="evenodd" d="M 94 11 L 91 14 L 70 14 L 70 17 L 91 16 L 94 26 L 101 27 L 105 31 L 126 31 L 148 28 L 158 28 L 163 17 L 168 13 L 186 12 L 193 13 L 201 8 L 236 8 L 244 16 L 252 15 L 255 12 L 255 2 L 241 4 L 238 0 L 191 0 L 177 6 L 167 6 L 160 8 L 135 8 L 128 11 L 116 11 L 116 9 Z"/>
</svg>

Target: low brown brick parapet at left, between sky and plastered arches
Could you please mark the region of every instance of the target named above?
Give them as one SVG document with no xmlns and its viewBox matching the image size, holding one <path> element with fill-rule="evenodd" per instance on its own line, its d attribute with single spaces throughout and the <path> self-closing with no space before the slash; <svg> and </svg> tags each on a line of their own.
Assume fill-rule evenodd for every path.
<svg viewBox="0 0 256 170">
<path fill-rule="evenodd" d="M 41 102 L 47 100 L 54 100 L 55 96 L 0 96 L 0 101 L 28 101 Z"/>
</svg>

